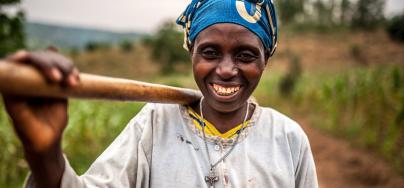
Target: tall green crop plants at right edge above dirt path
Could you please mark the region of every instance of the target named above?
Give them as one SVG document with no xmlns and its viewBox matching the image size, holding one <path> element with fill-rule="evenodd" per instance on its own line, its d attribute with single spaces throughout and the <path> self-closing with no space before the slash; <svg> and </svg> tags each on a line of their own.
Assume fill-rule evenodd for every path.
<svg viewBox="0 0 404 188">
<path fill-rule="evenodd" d="M 376 151 L 404 174 L 403 67 L 354 68 L 315 83 L 301 98 L 312 124 Z"/>
</svg>

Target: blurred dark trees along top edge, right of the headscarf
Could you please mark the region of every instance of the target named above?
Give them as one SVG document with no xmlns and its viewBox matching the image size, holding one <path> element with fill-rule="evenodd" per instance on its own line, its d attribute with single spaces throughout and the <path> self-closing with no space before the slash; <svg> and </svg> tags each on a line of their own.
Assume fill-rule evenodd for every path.
<svg viewBox="0 0 404 188">
<path fill-rule="evenodd" d="M 373 29 L 384 21 L 385 0 L 282 0 L 279 19 L 287 25 L 318 31 L 336 28 Z"/>
</svg>

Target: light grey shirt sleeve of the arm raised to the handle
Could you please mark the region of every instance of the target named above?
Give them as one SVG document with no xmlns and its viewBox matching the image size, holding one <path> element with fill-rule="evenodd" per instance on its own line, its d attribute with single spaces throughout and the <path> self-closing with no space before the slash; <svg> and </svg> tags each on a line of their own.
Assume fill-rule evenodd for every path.
<svg viewBox="0 0 404 188">
<path fill-rule="evenodd" d="M 132 119 L 112 144 L 78 176 L 65 157 L 62 188 L 143 187 L 148 186 L 152 146 L 153 112 L 150 105 Z M 147 126 L 149 125 L 149 126 Z M 91 146 L 89 146 L 91 147 Z M 26 188 L 36 188 L 32 176 Z"/>
</svg>

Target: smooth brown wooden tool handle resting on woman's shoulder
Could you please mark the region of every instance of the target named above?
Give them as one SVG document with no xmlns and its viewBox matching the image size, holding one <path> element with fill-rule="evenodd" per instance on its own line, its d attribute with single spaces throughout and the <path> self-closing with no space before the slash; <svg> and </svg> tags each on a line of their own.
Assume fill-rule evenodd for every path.
<svg viewBox="0 0 404 188">
<path fill-rule="evenodd" d="M 80 74 L 75 87 L 49 83 L 35 68 L 0 61 L 0 93 L 32 97 L 106 99 L 156 103 L 191 104 L 201 97 L 192 89 L 134 80 Z"/>
</svg>

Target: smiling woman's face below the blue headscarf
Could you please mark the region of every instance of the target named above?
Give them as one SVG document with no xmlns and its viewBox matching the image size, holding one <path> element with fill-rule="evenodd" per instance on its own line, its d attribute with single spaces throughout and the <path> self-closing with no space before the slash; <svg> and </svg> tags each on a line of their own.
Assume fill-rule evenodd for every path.
<svg viewBox="0 0 404 188">
<path fill-rule="evenodd" d="M 231 23 L 206 28 L 192 48 L 195 81 L 208 106 L 218 112 L 233 112 L 245 105 L 267 59 L 260 39 Z"/>
</svg>

